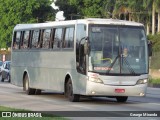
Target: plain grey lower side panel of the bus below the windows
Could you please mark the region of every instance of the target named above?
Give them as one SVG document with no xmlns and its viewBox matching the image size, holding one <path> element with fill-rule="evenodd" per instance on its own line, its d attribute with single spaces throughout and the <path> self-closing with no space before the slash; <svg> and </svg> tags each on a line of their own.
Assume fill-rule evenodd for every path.
<svg viewBox="0 0 160 120">
<path fill-rule="evenodd" d="M 26 50 L 12 54 L 13 84 L 23 86 L 23 74 L 27 70 L 31 88 L 64 92 L 65 77 L 69 73 L 74 93 L 85 94 L 86 77 L 77 73 L 74 51 Z"/>
</svg>

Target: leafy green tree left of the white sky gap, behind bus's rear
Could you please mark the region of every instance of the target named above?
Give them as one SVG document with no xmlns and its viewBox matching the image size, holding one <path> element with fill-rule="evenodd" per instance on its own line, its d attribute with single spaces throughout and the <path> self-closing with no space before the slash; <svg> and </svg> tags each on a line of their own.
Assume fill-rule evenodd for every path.
<svg viewBox="0 0 160 120">
<path fill-rule="evenodd" d="M 0 47 L 10 47 L 16 24 L 53 20 L 49 0 L 0 0 Z"/>
</svg>

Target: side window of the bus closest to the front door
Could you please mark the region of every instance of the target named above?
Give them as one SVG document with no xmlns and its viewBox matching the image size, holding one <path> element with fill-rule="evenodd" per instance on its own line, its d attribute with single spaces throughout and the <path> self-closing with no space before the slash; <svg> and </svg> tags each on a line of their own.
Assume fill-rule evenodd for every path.
<svg viewBox="0 0 160 120">
<path fill-rule="evenodd" d="M 66 28 L 65 39 L 63 41 L 63 48 L 73 48 L 73 40 L 74 40 L 74 28 L 73 27 Z"/>
</svg>

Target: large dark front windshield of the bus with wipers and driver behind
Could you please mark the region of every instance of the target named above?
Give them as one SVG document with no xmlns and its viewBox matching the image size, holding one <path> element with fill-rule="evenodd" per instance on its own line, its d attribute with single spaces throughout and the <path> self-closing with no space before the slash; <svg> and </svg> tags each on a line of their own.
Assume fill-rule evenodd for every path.
<svg viewBox="0 0 160 120">
<path fill-rule="evenodd" d="M 89 71 L 140 75 L 148 72 L 147 39 L 142 26 L 89 26 Z"/>
</svg>

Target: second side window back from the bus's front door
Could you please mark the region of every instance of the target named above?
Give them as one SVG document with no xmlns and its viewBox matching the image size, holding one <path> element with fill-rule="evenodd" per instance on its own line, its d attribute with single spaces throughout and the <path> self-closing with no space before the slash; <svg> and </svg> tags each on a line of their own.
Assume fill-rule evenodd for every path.
<svg viewBox="0 0 160 120">
<path fill-rule="evenodd" d="M 60 48 L 61 42 L 62 42 L 62 28 L 57 28 L 55 31 L 55 36 L 54 36 L 53 49 Z"/>
</svg>

